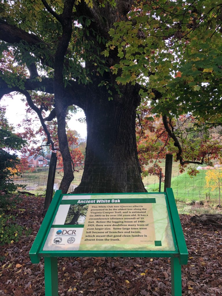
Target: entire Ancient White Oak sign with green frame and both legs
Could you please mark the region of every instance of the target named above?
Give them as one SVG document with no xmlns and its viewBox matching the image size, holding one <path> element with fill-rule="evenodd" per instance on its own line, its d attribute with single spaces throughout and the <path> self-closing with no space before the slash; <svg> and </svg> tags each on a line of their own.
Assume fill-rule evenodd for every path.
<svg viewBox="0 0 222 296">
<path fill-rule="evenodd" d="M 29 252 L 45 260 L 45 295 L 58 295 L 57 257 L 169 257 L 181 296 L 188 252 L 171 188 L 160 193 L 62 194 L 57 190 Z"/>
</svg>

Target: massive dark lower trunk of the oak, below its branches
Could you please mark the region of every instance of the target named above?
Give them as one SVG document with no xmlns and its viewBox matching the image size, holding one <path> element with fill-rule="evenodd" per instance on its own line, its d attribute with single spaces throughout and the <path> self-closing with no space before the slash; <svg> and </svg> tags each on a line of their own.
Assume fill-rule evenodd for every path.
<svg viewBox="0 0 222 296">
<path fill-rule="evenodd" d="M 137 157 L 135 119 L 138 95 L 124 89 L 113 100 L 107 90 L 89 86 L 86 103 L 86 160 L 75 193 L 145 192 Z"/>
</svg>

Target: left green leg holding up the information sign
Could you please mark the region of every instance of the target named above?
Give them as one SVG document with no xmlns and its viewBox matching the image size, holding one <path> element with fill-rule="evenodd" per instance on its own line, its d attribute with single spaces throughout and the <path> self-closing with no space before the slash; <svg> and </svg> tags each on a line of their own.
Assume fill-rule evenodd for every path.
<svg viewBox="0 0 222 296">
<path fill-rule="evenodd" d="M 45 296 L 58 296 L 57 258 L 45 258 Z"/>
</svg>

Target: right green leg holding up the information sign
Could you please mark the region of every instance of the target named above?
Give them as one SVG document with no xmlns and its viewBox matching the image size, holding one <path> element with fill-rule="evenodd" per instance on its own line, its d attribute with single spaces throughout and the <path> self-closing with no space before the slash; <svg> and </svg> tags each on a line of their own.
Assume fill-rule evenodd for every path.
<svg viewBox="0 0 222 296">
<path fill-rule="evenodd" d="M 182 296 L 181 265 L 179 258 L 171 258 L 171 295 Z"/>
</svg>

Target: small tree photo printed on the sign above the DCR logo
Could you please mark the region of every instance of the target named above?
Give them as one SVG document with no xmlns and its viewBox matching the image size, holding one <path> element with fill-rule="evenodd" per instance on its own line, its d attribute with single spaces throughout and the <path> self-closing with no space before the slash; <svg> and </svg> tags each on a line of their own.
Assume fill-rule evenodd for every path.
<svg viewBox="0 0 222 296">
<path fill-rule="evenodd" d="M 70 205 L 64 224 L 84 224 L 88 207 L 89 205 Z"/>
</svg>

